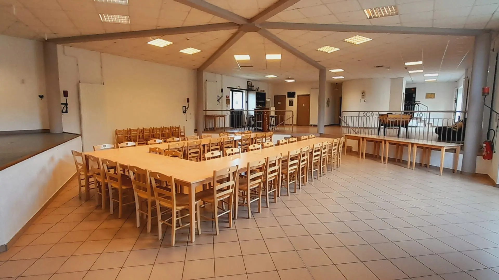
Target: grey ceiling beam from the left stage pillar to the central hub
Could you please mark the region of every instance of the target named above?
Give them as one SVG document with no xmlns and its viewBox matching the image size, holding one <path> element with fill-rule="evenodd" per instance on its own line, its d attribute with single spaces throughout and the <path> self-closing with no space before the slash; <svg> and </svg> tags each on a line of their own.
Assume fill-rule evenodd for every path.
<svg viewBox="0 0 499 280">
<path fill-rule="evenodd" d="M 163 35 L 188 34 L 188 33 L 219 31 L 219 30 L 231 30 L 231 29 L 238 29 L 238 28 L 239 28 L 239 24 L 236 24 L 234 22 L 226 22 L 226 23 L 214 23 L 214 24 L 205 24 L 205 25 L 194 25 L 194 26 L 159 28 L 159 29 L 139 30 L 139 31 L 127 31 L 127 32 L 61 37 L 61 38 L 48 39 L 47 42 L 52 42 L 52 43 L 56 43 L 56 44 L 83 43 L 83 42 L 93 42 L 93 41 L 143 38 L 143 37 L 153 37 L 153 36 L 163 36 Z"/>
</svg>

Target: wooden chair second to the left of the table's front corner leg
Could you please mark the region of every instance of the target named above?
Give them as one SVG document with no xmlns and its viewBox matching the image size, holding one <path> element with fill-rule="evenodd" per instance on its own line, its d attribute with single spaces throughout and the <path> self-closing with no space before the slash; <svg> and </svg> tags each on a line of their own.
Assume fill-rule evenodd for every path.
<svg viewBox="0 0 499 280">
<path fill-rule="evenodd" d="M 135 197 L 135 216 L 137 219 L 137 228 L 140 227 L 141 214 L 145 215 L 147 219 L 147 233 L 150 233 L 152 208 L 156 206 L 153 204 L 155 196 L 151 190 L 149 171 L 137 166 L 129 166 L 128 170 L 132 180 L 133 193 Z"/>
</svg>

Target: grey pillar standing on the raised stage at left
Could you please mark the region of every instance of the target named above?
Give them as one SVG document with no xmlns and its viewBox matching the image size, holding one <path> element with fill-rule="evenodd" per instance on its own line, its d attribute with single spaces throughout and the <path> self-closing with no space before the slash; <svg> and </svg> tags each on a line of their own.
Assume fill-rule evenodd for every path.
<svg viewBox="0 0 499 280">
<path fill-rule="evenodd" d="M 56 44 L 43 43 L 43 63 L 45 66 L 45 95 L 47 97 L 50 133 L 62 133 L 62 108 Z"/>
</svg>

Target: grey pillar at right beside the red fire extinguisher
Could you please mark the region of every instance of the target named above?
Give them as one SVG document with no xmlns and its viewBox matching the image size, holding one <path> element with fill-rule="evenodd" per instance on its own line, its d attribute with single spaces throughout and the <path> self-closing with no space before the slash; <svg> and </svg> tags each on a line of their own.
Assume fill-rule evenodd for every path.
<svg viewBox="0 0 499 280">
<path fill-rule="evenodd" d="M 477 167 L 477 153 L 483 140 L 482 122 L 484 116 L 484 100 L 482 97 L 482 87 L 487 85 L 490 51 L 491 33 L 476 35 L 471 87 L 468 96 L 468 115 L 466 120 L 462 165 L 463 173 L 475 173 Z"/>
</svg>

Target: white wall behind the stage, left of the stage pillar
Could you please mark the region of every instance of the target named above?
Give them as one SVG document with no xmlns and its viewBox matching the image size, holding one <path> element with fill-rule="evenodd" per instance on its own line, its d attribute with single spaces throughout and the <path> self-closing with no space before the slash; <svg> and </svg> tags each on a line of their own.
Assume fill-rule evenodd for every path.
<svg viewBox="0 0 499 280">
<path fill-rule="evenodd" d="M 43 45 L 0 35 L 0 131 L 49 129 Z"/>
</svg>

